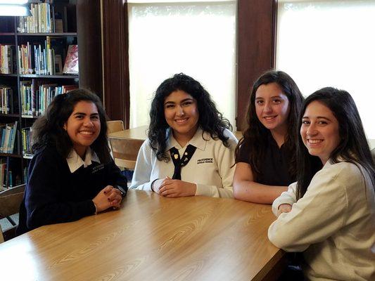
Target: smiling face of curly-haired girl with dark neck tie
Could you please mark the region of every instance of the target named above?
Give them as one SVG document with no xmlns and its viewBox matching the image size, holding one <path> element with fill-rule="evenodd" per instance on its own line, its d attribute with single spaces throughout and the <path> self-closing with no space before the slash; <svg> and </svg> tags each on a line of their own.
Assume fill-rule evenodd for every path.
<svg viewBox="0 0 375 281">
<path fill-rule="evenodd" d="M 180 145 L 193 138 L 198 129 L 199 112 L 196 100 L 185 91 L 174 91 L 164 100 L 164 115 Z"/>
</svg>

